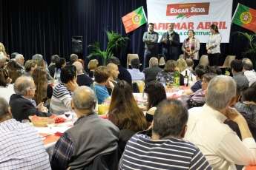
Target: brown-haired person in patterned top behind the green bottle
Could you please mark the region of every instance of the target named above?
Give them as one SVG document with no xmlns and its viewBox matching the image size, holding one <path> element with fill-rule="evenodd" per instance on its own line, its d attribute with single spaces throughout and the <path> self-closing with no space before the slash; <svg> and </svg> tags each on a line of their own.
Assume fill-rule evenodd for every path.
<svg viewBox="0 0 256 170">
<path fill-rule="evenodd" d="M 174 81 L 174 72 L 177 70 L 177 61 L 168 60 L 162 72 L 157 74 L 157 81 L 160 81 L 164 86 L 167 81 Z M 180 86 L 184 85 L 184 76 L 180 74 Z"/>
</svg>

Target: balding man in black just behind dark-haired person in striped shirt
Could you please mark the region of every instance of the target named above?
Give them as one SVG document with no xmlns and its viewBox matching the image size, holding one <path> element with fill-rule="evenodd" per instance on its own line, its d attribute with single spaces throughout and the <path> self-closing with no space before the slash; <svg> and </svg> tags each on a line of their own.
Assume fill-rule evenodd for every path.
<svg viewBox="0 0 256 170">
<path fill-rule="evenodd" d="M 85 74 L 84 68 L 82 67 L 82 63 L 79 61 L 73 62 L 73 66 L 76 67 L 76 72 L 77 72 L 77 79 L 76 82 L 79 86 L 91 86 L 93 83 L 93 80 Z"/>
</svg>

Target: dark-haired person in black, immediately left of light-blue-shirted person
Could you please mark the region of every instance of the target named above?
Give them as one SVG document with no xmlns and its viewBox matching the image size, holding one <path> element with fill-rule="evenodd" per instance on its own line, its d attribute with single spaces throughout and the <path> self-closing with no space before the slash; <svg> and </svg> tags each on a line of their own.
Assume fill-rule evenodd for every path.
<svg viewBox="0 0 256 170">
<path fill-rule="evenodd" d="M 124 80 L 128 84 L 131 85 L 131 74 L 130 74 L 130 72 L 128 72 L 127 69 L 125 69 L 125 67 L 122 67 L 122 65 L 119 61 L 119 58 L 116 58 L 116 57 L 109 58 L 108 63 L 116 64 L 117 67 L 118 67 L 118 70 L 119 70 L 118 79 L 119 80 Z"/>
</svg>

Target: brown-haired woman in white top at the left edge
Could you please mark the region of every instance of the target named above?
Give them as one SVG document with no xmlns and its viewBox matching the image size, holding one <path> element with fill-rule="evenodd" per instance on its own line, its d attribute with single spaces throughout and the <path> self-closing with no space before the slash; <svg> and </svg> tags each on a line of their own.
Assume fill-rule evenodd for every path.
<svg viewBox="0 0 256 170">
<path fill-rule="evenodd" d="M 7 102 L 10 101 L 10 96 L 15 93 L 13 84 L 10 84 L 11 81 L 7 69 L 0 69 L 0 94 L 1 98 L 4 98 Z"/>
</svg>

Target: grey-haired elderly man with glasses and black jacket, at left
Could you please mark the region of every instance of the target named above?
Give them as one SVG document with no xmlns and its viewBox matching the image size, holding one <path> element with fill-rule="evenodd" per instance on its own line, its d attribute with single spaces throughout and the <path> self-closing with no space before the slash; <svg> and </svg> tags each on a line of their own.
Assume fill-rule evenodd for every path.
<svg viewBox="0 0 256 170">
<path fill-rule="evenodd" d="M 22 75 L 14 83 L 14 92 L 10 96 L 10 109 L 13 118 L 18 121 L 28 119 L 30 115 L 47 116 L 47 108 L 43 103 L 36 106 L 35 96 L 36 86 L 33 78 Z"/>
</svg>

